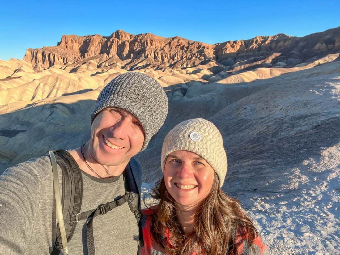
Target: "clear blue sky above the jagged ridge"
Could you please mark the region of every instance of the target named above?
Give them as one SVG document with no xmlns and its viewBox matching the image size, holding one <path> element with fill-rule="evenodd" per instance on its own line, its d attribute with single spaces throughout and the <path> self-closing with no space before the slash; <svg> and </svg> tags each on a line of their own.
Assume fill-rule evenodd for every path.
<svg viewBox="0 0 340 255">
<path fill-rule="evenodd" d="M 340 1 L 2 1 L 0 59 L 55 46 L 63 34 L 181 36 L 214 44 L 284 33 L 305 36 L 340 26 Z M 340 35 L 339 35 L 340 36 Z"/>
</svg>

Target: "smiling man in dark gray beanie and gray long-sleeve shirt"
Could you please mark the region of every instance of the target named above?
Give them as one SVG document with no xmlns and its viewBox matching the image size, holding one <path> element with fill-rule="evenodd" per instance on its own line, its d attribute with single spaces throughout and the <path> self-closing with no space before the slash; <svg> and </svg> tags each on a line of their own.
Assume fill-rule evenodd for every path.
<svg viewBox="0 0 340 255">
<path fill-rule="evenodd" d="M 91 115 L 89 141 L 68 151 L 82 175 L 82 212 L 122 198 L 126 191 L 122 173 L 130 159 L 148 146 L 167 112 L 165 91 L 146 74 L 127 72 L 104 87 Z M 58 173 L 62 176 L 60 166 Z M 137 182 L 140 179 L 139 175 Z M 1 254 L 52 252 L 56 243 L 52 182 L 48 156 L 10 167 L 0 176 Z M 92 218 L 96 254 L 137 254 L 139 228 L 129 206 L 124 203 Z M 69 254 L 94 254 L 87 240 L 90 218 L 78 219 L 68 242 Z"/>
</svg>

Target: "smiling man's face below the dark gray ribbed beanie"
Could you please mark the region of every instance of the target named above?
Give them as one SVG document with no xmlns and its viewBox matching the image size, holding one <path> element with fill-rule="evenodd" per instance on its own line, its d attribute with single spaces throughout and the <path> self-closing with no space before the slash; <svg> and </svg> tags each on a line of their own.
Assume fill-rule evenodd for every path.
<svg viewBox="0 0 340 255">
<path fill-rule="evenodd" d="M 123 109 L 107 107 L 91 125 L 89 152 L 101 165 L 125 167 L 143 143 L 141 123 Z"/>
</svg>

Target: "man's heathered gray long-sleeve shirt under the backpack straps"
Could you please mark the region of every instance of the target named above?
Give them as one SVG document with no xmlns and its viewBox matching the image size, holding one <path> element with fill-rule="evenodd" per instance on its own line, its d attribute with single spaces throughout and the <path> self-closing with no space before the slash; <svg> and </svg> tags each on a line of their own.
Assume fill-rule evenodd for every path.
<svg viewBox="0 0 340 255">
<path fill-rule="evenodd" d="M 62 172 L 58 166 L 60 190 Z M 98 179 L 82 171 L 81 211 L 125 194 L 122 175 Z M 117 179 L 117 177 L 116 177 Z M 10 167 L 0 176 L 0 254 L 50 254 L 52 240 L 52 168 L 47 156 Z M 87 254 L 85 220 L 77 223 L 69 254 Z M 137 254 L 138 225 L 125 203 L 94 218 L 96 255 Z"/>
</svg>

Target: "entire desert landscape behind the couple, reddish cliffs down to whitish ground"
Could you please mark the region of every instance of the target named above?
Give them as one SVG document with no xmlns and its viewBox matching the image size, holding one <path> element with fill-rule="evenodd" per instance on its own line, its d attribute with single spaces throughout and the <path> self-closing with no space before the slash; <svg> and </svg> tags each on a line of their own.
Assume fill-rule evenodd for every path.
<svg viewBox="0 0 340 255">
<path fill-rule="evenodd" d="M 214 45 L 181 37 L 63 35 L 57 46 L 0 60 L 0 173 L 89 137 L 109 81 L 145 72 L 169 113 L 136 158 L 143 194 L 161 176 L 160 149 L 177 123 L 208 119 L 222 133 L 222 187 L 240 200 L 271 254 L 339 254 L 340 27 Z"/>
</svg>

